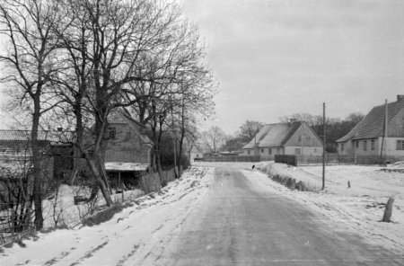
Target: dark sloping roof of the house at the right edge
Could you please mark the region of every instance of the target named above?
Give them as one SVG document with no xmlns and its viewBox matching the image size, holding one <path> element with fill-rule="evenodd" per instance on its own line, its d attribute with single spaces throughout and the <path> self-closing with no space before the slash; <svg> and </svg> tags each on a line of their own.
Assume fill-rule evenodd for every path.
<svg viewBox="0 0 404 266">
<path fill-rule="evenodd" d="M 393 120 L 404 109 L 404 101 L 391 102 L 387 104 L 387 123 Z M 373 109 L 356 124 L 355 128 L 349 131 L 346 136 L 341 137 L 337 142 L 345 142 L 349 139 L 362 139 L 381 137 L 384 129 L 385 104 L 375 106 Z"/>
</svg>

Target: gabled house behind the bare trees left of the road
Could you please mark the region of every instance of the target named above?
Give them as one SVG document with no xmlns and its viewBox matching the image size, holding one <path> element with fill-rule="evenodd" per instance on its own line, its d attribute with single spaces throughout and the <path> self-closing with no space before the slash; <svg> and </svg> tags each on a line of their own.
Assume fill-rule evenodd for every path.
<svg viewBox="0 0 404 266">
<path fill-rule="evenodd" d="M 87 133 L 84 137 L 84 146 L 89 155 L 93 153 L 94 139 L 92 136 Z M 152 141 L 145 134 L 145 126 L 134 120 L 127 111 L 119 110 L 110 113 L 106 137 L 108 143 L 104 164 L 105 171 L 111 177 L 122 175 L 122 179 L 131 179 L 149 168 Z M 88 171 L 83 159 L 80 164 L 84 172 Z"/>
</svg>

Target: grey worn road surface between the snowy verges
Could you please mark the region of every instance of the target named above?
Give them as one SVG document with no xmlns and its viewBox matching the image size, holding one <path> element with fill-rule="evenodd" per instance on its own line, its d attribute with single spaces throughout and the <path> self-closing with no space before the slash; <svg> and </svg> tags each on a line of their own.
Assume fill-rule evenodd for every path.
<svg viewBox="0 0 404 266">
<path fill-rule="evenodd" d="M 206 204 L 189 217 L 171 265 L 404 265 L 356 235 L 334 233 L 299 202 L 219 168 Z"/>
</svg>

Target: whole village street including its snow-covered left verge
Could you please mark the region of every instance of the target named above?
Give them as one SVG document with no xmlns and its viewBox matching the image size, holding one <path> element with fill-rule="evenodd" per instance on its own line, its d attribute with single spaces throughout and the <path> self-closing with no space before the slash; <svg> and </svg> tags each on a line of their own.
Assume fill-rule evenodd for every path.
<svg viewBox="0 0 404 266">
<path fill-rule="evenodd" d="M 202 169 L 202 170 L 201 170 Z M 14 244 L 1 265 L 403 265 L 381 246 L 338 233 L 255 174 L 199 168 L 100 226 Z M 163 191 L 164 192 L 164 191 Z M 138 205 L 138 206 L 137 206 Z M 330 226 L 332 225 L 332 226 Z"/>
</svg>

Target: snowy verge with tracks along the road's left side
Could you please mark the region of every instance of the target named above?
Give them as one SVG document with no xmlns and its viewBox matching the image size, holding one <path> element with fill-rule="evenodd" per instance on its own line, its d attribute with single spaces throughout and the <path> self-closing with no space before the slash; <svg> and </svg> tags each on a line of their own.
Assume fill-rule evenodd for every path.
<svg viewBox="0 0 404 266">
<path fill-rule="evenodd" d="M 155 246 L 180 230 L 212 181 L 212 168 L 191 167 L 162 192 L 133 200 L 132 207 L 100 226 L 40 233 L 22 244 L 3 247 L 0 265 L 138 265 L 137 260 L 154 260 L 159 253 Z"/>
</svg>

